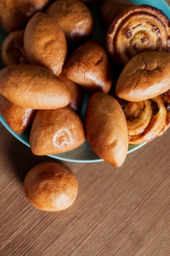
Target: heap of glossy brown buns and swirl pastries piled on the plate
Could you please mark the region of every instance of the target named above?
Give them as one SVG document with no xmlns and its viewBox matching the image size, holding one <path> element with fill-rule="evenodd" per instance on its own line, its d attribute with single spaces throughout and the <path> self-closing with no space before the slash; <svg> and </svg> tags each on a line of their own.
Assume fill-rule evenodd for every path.
<svg viewBox="0 0 170 256">
<path fill-rule="evenodd" d="M 0 1 L 7 33 L 0 113 L 13 131 L 31 129 L 35 155 L 67 152 L 87 139 L 119 167 L 128 144 L 152 141 L 170 125 L 170 21 L 150 5 L 99 2 L 103 44 L 92 37 L 93 2 Z"/>
</svg>

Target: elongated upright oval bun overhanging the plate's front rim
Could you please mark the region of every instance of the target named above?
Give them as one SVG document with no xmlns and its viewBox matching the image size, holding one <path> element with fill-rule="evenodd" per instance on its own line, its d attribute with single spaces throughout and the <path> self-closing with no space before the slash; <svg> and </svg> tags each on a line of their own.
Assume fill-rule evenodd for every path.
<svg viewBox="0 0 170 256">
<path fill-rule="evenodd" d="M 121 166 L 128 152 L 128 129 L 117 100 L 104 92 L 93 94 L 88 101 L 84 121 L 92 150 L 109 164 Z"/>
</svg>

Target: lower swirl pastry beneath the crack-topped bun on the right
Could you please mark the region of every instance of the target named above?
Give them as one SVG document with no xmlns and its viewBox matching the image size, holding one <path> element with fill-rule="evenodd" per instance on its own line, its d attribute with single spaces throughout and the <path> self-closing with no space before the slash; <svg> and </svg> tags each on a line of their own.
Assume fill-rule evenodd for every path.
<svg viewBox="0 0 170 256">
<path fill-rule="evenodd" d="M 161 96 L 145 101 L 119 99 L 128 126 L 129 144 L 149 142 L 166 130 L 166 107 Z"/>
</svg>

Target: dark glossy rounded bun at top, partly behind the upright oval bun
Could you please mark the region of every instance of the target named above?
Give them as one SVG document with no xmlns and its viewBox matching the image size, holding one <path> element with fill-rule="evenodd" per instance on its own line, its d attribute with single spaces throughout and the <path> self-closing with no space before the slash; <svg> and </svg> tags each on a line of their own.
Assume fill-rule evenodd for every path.
<svg viewBox="0 0 170 256">
<path fill-rule="evenodd" d="M 79 0 L 57 0 L 46 10 L 64 31 L 68 43 L 86 39 L 93 29 L 91 11 Z"/>
</svg>

